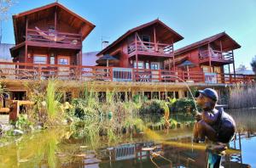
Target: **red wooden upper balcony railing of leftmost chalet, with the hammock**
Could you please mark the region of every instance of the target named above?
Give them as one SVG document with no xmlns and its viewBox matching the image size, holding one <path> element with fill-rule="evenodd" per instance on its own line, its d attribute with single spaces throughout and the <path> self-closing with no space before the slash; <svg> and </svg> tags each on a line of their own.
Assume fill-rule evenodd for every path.
<svg viewBox="0 0 256 168">
<path fill-rule="evenodd" d="M 58 44 L 70 44 L 70 45 L 81 45 L 81 35 L 74 33 L 64 33 L 64 32 L 49 32 L 42 31 L 48 36 L 40 35 L 36 29 L 28 29 L 26 35 L 26 41 L 32 42 L 49 42 L 49 43 L 58 43 Z"/>
</svg>

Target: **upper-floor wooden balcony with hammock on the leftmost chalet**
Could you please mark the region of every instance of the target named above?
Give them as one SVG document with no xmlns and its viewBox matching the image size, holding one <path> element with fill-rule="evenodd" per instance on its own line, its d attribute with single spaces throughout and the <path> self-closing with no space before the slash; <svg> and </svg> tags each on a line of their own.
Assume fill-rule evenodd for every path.
<svg viewBox="0 0 256 168">
<path fill-rule="evenodd" d="M 82 48 L 82 36 L 74 33 L 28 29 L 26 43 L 29 46 L 80 49 Z"/>
</svg>

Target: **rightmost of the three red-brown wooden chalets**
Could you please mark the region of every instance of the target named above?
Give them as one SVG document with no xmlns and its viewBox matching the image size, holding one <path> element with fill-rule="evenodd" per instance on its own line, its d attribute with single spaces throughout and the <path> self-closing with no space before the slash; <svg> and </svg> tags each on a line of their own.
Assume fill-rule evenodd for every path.
<svg viewBox="0 0 256 168">
<path fill-rule="evenodd" d="M 234 50 L 241 46 L 225 32 L 207 37 L 199 42 L 192 43 L 175 51 L 176 70 L 193 72 L 203 72 L 203 76 L 216 78 L 218 82 L 224 82 L 225 73 L 230 77 L 230 64 L 235 72 Z M 228 65 L 228 72 L 224 70 L 224 65 Z M 168 64 L 166 64 L 168 66 Z M 172 67 L 173 68 L 173 67 Z M 236 74 L 232 74 L 235 79 Z M 211 77 L 212 76 L 212 77 Z"/>
</svg>

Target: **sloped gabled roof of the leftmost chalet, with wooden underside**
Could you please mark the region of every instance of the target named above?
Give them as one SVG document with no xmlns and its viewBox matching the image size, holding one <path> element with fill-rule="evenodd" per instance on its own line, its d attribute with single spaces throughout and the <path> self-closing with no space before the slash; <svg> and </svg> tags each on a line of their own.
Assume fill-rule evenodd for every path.
<svg viewBox="0 0 256 168">
<path fill-rule="evenodd" d="M 66 22 L 70 22 L 68 23 L 69 25 L 76 25 L 76 27 L 78 27 L 78 29 L 81 30 L 83 40 L 86 36 L 90 34 L 90 31 L 92 31 L 96 26 L 90 23 L 90 21 L 85 20 L 83 17 L 79 16 L 79 14 L 73 13 L 73 11 L 64 7 L 60 3 L 49 3 L 48 5 L 39 8 L 33 8 L 26 12 L 13 15 L 16 43 L 17 41 L 20 42 L 19 35 L 21 31 L 24 31 L 24 28 L 26 27 L 26 17 L 30 18 L 29 21 L 40 20 L 45 16 L 51 14 L 54 8 L 60 8 L 61 12 L 59 14 L 66 14 L 65 17 L 63 16 L 63 20 Z"/>
</svg>

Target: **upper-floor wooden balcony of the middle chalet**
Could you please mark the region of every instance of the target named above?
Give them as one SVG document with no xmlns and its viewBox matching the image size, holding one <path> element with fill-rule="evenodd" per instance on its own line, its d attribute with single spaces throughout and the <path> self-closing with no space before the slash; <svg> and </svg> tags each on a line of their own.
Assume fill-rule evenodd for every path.
<svg viewBox="0 0 256 168">
<path fill-rule="evenodd" d="M 168 58 L 173 56 L 173 45 L 141 41 L 131 42 L 128 45 L 128 54 L 129 57 L 138 54 Z"/>
</svg>

